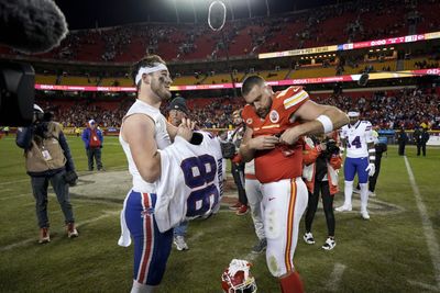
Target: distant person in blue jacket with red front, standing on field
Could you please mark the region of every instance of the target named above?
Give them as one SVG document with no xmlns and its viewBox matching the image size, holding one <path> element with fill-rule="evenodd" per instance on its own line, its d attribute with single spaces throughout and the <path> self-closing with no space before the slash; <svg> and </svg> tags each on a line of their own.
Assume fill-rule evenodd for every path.
<svg viewBox="0 0 440 293">
<path fill-rule="evenodd" d="M 103 171 L 101 161 L 103 136 L 102 132 L 97 127 L 95 120 L 89 120 L 87 127 L 82 131 L 81 138 L 86 147 L 89 171 L 94 170 L 94 159 L 98 171 Z"/>
</svg>

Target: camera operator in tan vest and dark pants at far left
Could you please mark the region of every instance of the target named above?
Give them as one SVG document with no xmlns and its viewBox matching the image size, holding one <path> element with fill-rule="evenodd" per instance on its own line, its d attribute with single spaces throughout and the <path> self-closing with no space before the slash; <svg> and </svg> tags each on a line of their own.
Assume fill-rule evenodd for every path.
<svg viewBox="0 0 440 293">
<path fill-rule="evenodd" d="M 20 127 L 15 140 L 16 145 L 24 149 L 26 171 L 31 177 L 40 226 L 40 244 L 51 241 L 47 217 L 50 181 L 64 213 L 67 236 L 78 236 L 68 193 L 68 183 L 74 184 L 77 179 L 75 166 L 61 125 L 51 120 L 51 113 L 44 113 L 34 104 L 34 123 L 29 127 Z"/>
</svg>

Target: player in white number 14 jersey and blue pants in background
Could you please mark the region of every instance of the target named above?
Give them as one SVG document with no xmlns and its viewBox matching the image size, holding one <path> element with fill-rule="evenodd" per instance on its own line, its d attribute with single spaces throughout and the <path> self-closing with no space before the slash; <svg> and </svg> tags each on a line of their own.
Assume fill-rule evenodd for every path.
<svg viewBox="0 0 440 293">
<path fill-rule="evenodd" d="M 374 160 L 375 148 L 372 133 L 372 124 L 369 121 L 361 121 L 360 113 L 350 111 L 350 124 L 341 128 L 341 142 L 346 149 L 344 162 L 344 204 L 336 209 L 338 212 L 352 210 L 351 198 L 353 194 L 353 180 L 358 173 L 361 188 L 361 216 L 370 219 L 367 211 L 369 202 L 369 176 L 375 172 Z"/>
</svg>

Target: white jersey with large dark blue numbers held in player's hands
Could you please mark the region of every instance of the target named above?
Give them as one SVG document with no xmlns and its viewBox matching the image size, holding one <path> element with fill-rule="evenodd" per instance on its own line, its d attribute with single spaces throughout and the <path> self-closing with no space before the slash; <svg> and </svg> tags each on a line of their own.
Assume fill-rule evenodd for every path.
<svg viewBox="0 0 440 293">
<path fill-rule="evenodd" d="M 176 136 L 161 153 L 161 179 L 156 181 L 154 211 L 161 232 L 185 219 L 207 217 L 220 209 L 223 172 L 220 142 L 206 132 L 199 144 Z"/>
</svg>

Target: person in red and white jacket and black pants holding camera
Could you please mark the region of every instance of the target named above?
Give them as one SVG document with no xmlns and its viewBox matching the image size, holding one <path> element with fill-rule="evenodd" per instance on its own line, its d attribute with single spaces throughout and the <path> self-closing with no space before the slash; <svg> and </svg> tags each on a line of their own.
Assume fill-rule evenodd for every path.
<svg viewBox="0 0 440 293">
<path fill-rule="evenodd" d="M 333 135 L 333 133 L 329 135 Z M 315 244 L 311 224 L 318 207 L 319 193 L 321 193 L 328 229 L 328 238 L 322 248 L 331 250 L 337 245 L 334 240 L 333 196 L 338 192 L 337 170 L 341 168 L 342 158 L 337 142 L 329 136 L 306 137 L 305 140 L 302 178 L 309 191 L 309 201 L 306 212 L 306 234 L 302 238 L 306 244 Z"/>
</svg>

